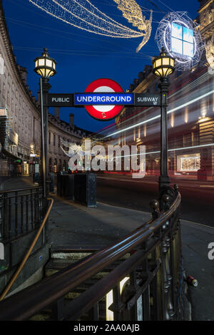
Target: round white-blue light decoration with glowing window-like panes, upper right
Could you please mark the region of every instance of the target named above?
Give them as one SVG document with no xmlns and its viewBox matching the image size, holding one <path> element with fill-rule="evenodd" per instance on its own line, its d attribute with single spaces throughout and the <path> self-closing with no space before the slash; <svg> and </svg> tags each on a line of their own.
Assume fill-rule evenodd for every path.
<svg viewBox="0 0 214 335">
<path fill-rule="evenodd" d="M 180 71 L 189 70 L 200 61 L 204 45 L 196 27 L 185 11 L 168 13 L 158 25 L 158 48 L 165 48 L 175 58 L 175 68 Z"/>
</svg>

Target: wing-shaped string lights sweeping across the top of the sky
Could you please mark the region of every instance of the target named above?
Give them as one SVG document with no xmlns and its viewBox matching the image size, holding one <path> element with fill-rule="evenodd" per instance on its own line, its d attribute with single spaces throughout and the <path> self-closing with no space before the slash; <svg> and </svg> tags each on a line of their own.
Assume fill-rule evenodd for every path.
<svg viewBox="0 0 214 335">
<path fill-rule="evenodd" d="M 113 0 L 118 4 L 118 9 L 123 16 L 138 28 L 138 31 L 119 24 L 109 16 L 93 6 L 88 0 L 29 0 L 39 9 L 54 16 L 66 24 L 75 26 L 78 29 L 97 33 L 103 36 L 114 38 L 142 37 L 136 52 L 148 42 L 151 36 L 152 11 L 149 20 L 143 16 L 141 7 L 135 0 Z"/>
</svg>

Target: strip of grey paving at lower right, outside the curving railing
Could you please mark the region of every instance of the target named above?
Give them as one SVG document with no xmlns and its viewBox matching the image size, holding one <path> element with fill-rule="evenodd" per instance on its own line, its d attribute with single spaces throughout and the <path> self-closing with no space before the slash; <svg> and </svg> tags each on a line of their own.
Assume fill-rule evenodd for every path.
<svg viewBox="0 0 214 335">
<path fill-rule="evenodd" d="M 208 244 L 214 242 L 214 228 L 182 220 L 181 237 L 183 267 L 187 276 L 198 280 L 198 287 L 188 287 L 192 319 L 214 321 L 214 259 L 208 258 Z"/>
</svg>

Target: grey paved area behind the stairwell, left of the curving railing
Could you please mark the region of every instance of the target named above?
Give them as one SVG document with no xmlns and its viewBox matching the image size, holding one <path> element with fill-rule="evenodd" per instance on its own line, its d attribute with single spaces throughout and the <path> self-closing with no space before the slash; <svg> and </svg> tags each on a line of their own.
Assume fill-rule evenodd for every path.
<svg viewBox="0 0 214 335">
<path fill-rule="evenodd" d="M 49 229 L 50 243 L 57 245 L 90 244 L 108 246 L 151 219 L 151 214 L 114 207 L 101 202 L 86 207 L 76 202 L 54 197 Z"/>
</svg>

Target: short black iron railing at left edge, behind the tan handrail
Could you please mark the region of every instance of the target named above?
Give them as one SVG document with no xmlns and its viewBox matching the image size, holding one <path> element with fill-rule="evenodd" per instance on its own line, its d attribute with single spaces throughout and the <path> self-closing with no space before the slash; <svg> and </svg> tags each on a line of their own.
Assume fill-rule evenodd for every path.
<svg viewBox="0 0 214 335">
<path fill-rule="evenodd" d="M 43 217 L 42 188 L 31 187 L 0 192 L 0 240 L 30 232 Z"/>
</svg>

